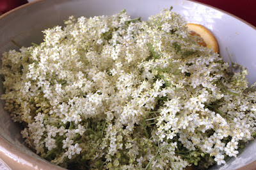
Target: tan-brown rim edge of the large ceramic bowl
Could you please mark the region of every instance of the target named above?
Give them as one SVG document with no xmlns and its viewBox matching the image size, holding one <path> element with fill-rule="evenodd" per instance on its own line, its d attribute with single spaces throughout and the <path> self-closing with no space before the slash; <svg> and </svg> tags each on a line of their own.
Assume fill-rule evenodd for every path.
<svg viewBox="0 0 256 170">
<path fill-rule="evenodd" d="M 13 8 L 12 10 L 4 13 L 3 15 L 0 15 L 0 20 L 4 19 L 5 17 L 8 17 L 8 15 L 15 13 L 22 8 L 26 8 L 27 6 L 31 6 L 36 3 L 40 3 L 41 1 L 47 1 L 47 0 L 36 0 L 36 1 L 26 3 L 26 4 L 22 4 L 21 6 L 18 6 L 17 8 Z M 240 17 L 237 17 L 236 15 L 234 15 L 232 13 L 226 12 L 225 10 L 221 10 L 220 8 L 216 8 L 209 4 L 204 4 L 204 3 L 201 3 L 198 1 L 193 1 L 193 0 L 184 0 L 184 1 L 190 1 L 192 3 L 202 4 L 209 8 L 213 8 L 214 10 L 218 10 L 219 12 L 225 13 L 226 15 L 229 15 L 230 17 L 240 20 L 241 22 L 243 22 L 244 24 L 246 24 L 249 27 L 252 27 L 252 29 L 254 29 L 256 31 L 256 26 L 253 26 L 246 20 L 241 19 Z M 3 146 L 6 146 L 6 147 L 3 147 Z M 62 167 L 56 166 L 56 165 L 52 164 L 51 162 L 44 162 L 43 160 L 40 160 L 40 159 L 36 159 L 36 161 L 35 161 L 33 156 L 28 155 L 28 153 L 24 153 L 21 150 L 17 149 L 16 146 L 13 146 L 13 144 L 6 141 L 6 139 L 4 139 L 4 137 L 2 137 L 1 135 L 0 135 L 0 156 L 4 160 L 4 162 L 8 162 L 8 166 L 10 166 L 10 165 L 13 166 L 13 164 L 20 164 L 20 168 L 24 167 L 25 169 L 28 169 L 28 168 L 29 169 L 31 169 L 31 168 L 37 169 L 38 167 L 40 168 L 41 166 L 51 168 L 51 169 L 63 169 Z M 21 158 L 22 160 L 21 161 L 17 160 L 17 158 L 19 158 L 19 159 Z M 28 164 L 28 162 L 30 160 L 34 160 L 33 162 L 38 162 L 40 164 L 36 164 L 36 166 L 34 167 L 32 164 Z M 249 170 L 249 169 L 253 169 L 255 167 L 256 167 L 256 160 L 254 160 L 253 162 L 251 162 L 249 164 L 246 164 L 243 167 L 240 167 L 238 170 L 243 170 L 243 169 Z"/>
</svg>

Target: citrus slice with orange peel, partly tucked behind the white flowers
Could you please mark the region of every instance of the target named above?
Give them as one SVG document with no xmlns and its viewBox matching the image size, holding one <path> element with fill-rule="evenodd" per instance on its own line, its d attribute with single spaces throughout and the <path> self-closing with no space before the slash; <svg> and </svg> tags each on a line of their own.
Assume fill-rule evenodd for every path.
<svg viewBox="0 0 256 170">
<path fill-rule="evenodd" d="M 200 25 L 200 24 L 187 24 L 189 34 L 192 36 L 196 36 L 196 41 L 199 45 L 207 47 L 208 49 L 214 50 L 214 52 L 219 52 L 219 45 L 209 29 Z"/>
</svg>

